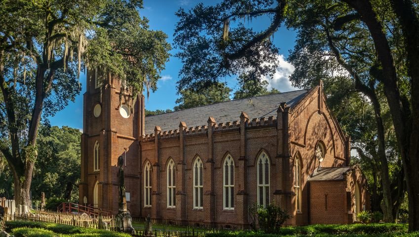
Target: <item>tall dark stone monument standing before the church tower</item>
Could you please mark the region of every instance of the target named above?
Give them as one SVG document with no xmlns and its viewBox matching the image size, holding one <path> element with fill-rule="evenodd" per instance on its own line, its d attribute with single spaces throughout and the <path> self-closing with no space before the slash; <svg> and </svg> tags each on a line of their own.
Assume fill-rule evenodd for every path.
<svg viewBox="0 0 419 237">
<path fill-rule="evenodd" d="M 126 197 L 125 197 L 125 180 L 124 180 L 124 158 L 118 157 L 118 179 L 119 179 L 119 212 L 116 215 L 116 228 L 119 231 L 132 234 L 134 228 L 132 228 L 132 218 L 126 208 Z"/>
</svg>

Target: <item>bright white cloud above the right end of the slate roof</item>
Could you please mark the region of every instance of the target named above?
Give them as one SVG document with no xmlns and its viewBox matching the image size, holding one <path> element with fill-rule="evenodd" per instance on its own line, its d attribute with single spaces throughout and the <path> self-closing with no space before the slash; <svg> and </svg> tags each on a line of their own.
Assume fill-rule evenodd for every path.
<svg viewBox="0 0 419 237">
<path fill-rule="evenodd" d="M 276 68 L 275 74 L 272 78 L 270 76 L 264 76 L 262 80 L 267 81 L 269 85 L 268 89 L 278 89 L 281 92 L 287 92 L 292 90 L 297 90 L 291 85 L 290 76 L 294 72 L 294 66 L 285 60 L 283 55 L 278 55 L 279 67 Z"/>
</svg>

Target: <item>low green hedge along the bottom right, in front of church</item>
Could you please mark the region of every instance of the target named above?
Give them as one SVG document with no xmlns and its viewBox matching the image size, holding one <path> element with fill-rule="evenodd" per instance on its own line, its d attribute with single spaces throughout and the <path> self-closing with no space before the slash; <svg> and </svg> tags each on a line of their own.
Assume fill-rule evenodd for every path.
<svg viewBox="0 0 419 237">
<path fill-rule="evenodd" d="M 419 232 L 408 233 L 406 224 L 352 224 L 352 225 L 310 225 L 302 227 L 281 228 L 278 235 L 255 233 L 255 232 L 223 232 L 210 233 L 206 237 L 277 237 L 277 236 L 346 236 L 346 237 L 417 237 Z"/>
</svg>

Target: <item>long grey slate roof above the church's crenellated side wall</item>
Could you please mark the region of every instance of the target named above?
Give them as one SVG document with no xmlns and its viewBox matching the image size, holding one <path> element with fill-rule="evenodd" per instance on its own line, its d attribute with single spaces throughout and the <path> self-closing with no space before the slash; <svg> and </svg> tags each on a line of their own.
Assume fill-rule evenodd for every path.
<svg viewBox="0 0 419 237">
<path fill-rule="evenodd" d="M 145 119 L 145 133 L 154 133 L 154 127 L 160 126 L 161 131 L 179 129 L 181 121 L 186 122 L 187 127 L 206 125 L 208 118 L 215 118 L 216 123 L 232 122 L 240 120 L 241 112 L 247 113 L 252 118 L 276 118 L 276 110 L 282 102 L 293 106 L 301 100 L 307 90 L 295 90 L 279 94 L 270 94 L 252 97 L 248 99 L 230 100 L 211 105 L 194 107 L 160 115 L 148 116 Z"/>
</svg>

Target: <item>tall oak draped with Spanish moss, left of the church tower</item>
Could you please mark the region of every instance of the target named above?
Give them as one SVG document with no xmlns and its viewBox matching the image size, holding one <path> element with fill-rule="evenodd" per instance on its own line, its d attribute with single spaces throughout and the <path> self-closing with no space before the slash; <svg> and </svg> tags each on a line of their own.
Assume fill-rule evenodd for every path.
<svg viewBox="0 0 419 237">
<path fill-rule="evenodd" d="M 141 0 L 5 0 L 0 3 L 0 150 L 17 204 L 28 204 L 38 127 L 80 91 L 80 71 L 125 80 L 134 98 L 156 89 L 170 50 L 149 30 Z"/>
</svg>

